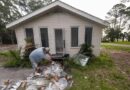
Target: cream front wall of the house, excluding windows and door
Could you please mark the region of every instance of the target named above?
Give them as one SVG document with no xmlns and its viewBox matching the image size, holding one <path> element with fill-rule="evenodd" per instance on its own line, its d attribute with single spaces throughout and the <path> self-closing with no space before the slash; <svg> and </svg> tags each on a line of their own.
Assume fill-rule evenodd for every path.
<svg viewBox="0 0 130 90">
<path fill-rule="evenodd" d="M 79 28 L 78 32 L 78 42 L 79 47 L 71 47 L 71 27 L 77 26 Z M 51 13 L 45 16 L 41 16 L 35 20 L 24 23 L 15 29 L 18 47 L 24 47 L 26 38 L 25 28 L 33 28 L 34 42 L 37 47 L 42 46 L 40 28 L 48 28 L 48 39 L 49 48 L 51 53 L 56 53 L 55 50 L 55 32 L 54 29 L 63 29 L 65 32 L 65 52 L 69 53 L 71 56 L 76 54 L 80 45 L 85 41 L 85 27 L 93 27 L 92 32 L 92 45 L 94 55 L 98 56 L 100 53 L 100 42 L 102 28 L 95 23 L 90 23 L 89 21 L 83 20 L 78 16 L 74 16 L 65 12 Z"/>
</svg>

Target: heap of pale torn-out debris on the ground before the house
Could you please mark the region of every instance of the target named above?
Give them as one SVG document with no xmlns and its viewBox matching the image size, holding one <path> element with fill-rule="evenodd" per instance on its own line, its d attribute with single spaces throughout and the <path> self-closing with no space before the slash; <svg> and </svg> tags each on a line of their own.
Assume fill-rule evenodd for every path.
<svg viewBox="0 0 130 90">
<path fill-rule="evenodd" d="M 0 90 L 65 90 L 72 83 L 72 76 L 64 72 L 60 64 L 53 62 L 43 69 L 37 69 L 26 80 L 5 81 Z"/>
</svg>

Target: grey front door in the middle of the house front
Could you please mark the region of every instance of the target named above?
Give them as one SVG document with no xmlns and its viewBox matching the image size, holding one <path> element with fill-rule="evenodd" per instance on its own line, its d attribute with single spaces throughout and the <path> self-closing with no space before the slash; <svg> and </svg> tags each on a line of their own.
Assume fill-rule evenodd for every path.
<svg viewBox="0 0 130 90">
<path fill-rule="evenodd" d="M 56 53 L 63 54 L 64 40 L 62 29 L 55 29 L 55 46 L 56 46 Z"/>
</svg>

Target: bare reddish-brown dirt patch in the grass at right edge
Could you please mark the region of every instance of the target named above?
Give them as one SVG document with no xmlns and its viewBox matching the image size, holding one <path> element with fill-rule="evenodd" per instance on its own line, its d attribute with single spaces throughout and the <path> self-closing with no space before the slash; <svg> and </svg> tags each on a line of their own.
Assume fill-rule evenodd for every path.
<svg viewBox="0 0 130 90">
<path fill-rule="evenodd" d="M 130 53 L 123 51 L 109 51 L 117 69 L 130 80 Z"/>
</svg>

